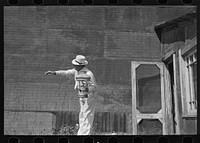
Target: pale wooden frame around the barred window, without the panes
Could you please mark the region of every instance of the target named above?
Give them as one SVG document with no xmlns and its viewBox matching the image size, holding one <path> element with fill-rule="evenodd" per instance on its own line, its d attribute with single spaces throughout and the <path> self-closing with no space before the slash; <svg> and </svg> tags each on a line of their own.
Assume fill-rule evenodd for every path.
<svg viewBox="0 0 200 143">
<path fill-rule="evenodd" d="M 196 61 L 194 61 L 194 54 L 196 54 Z M 188 65 L 187 59 L 193 56 L 193 63 Z M 183 116 L 197 116 L 197 108 L 194 108 L 195 102 L 192 101 L 195 97 L 194 82 L 191 84 L 191 78 L 193 78 L 191 71 L 191 65 L 197 62 L 197 48 L 196 40 L 186 45 L 183 49 L 179 49 L 179 65 L 180 65 L 180 83 L 181 83 L 181 98 L 182 98 L 182 112 Z M 189 69 L 188 69 L 189 66 Z M 190 72 L 190 73 L 189 73 Z M 191 87 L 192 85 L 192 87 Z M 192 89 L 191 89 L 192 88 Z M 192 93 L 191 93 L 192 91 Z M 191 105 L 193 104 L 193 105 Z M 197 107 L 196 100 L 196 107 Z M 191 109 L 191 107 L 193 109 Z"/>
</svg>

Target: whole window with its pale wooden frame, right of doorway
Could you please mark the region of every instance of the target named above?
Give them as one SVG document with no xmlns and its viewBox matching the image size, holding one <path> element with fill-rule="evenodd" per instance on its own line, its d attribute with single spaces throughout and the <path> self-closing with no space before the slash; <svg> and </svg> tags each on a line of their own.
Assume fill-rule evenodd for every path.
<svg viewBox="0 0 200 143">
<path fill-rule="evenodd" d="M 195 45 L 195 44 L 193 44 Z M 184 116 L 197 115 L 197 52 L 196 45 L 180 49 L 180 83 Z"/>
</svg>

